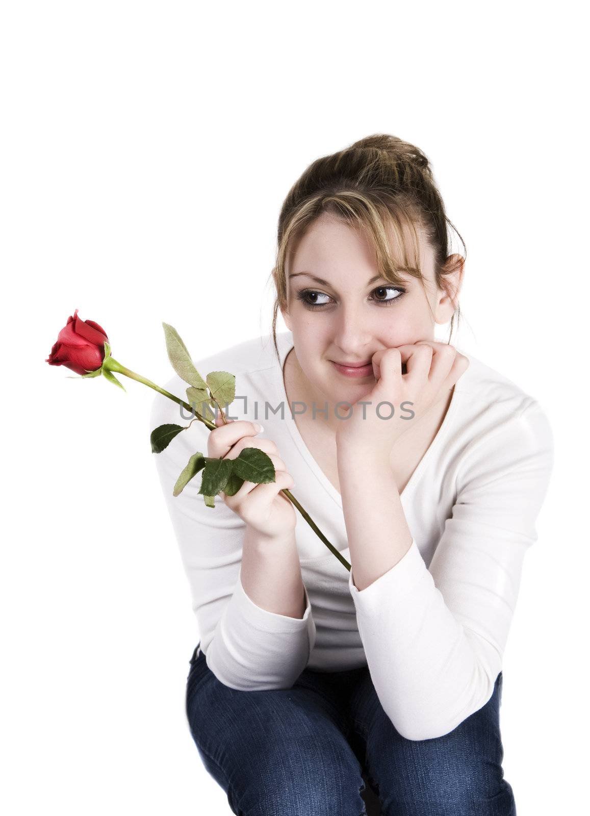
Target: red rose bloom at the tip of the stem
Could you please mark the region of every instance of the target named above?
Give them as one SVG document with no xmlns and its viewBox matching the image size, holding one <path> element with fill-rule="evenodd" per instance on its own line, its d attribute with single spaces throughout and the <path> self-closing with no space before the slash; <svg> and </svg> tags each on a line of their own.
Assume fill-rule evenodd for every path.
<svg viewBox="0 0 590 816">
<path fill-rule="evenodd" d="M 66 366 L 84 375 L 100 369 L 104 359 L 106 332 L 93 320 L 80 320 L 78 309 L 60 331 L 46 362 L 50 366 Z"/>
</svg>

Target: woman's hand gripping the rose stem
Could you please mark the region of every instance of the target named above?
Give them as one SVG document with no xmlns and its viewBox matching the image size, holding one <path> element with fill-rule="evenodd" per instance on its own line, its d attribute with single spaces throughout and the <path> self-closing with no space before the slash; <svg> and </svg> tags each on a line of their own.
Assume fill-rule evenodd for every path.
<svg viewBox="0 0 590 816">
<path fill-rule="evenodd" d="M 207 438 L 207 455 L 215 459 L 237 459 L 244 448 L 260 448 L 271 459 L 276 472 L 276 481 L 268 484 L 244 481 L 233 496 L 221 492 L 224 503 L 260 536 L 279 539 L 291 534 L 297 521 L 295 508 L 281 490 L 293 487 L 295 481 L 279 457 L 277 446 L 270 439 L 255 439 L 259 432 L 254 423 L 246 419 L 228 419 L 224 424 L 218 413 L 215 424 L 217 427 Z"/>
</svg>

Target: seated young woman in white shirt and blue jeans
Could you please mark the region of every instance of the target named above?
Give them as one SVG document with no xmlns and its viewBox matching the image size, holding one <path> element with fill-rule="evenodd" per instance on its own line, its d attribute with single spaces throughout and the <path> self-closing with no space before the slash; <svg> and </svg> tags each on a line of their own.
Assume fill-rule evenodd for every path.
<svg viewBox="0 0 590 816">
<path fill-rule="evenodd" d="M 197 361 L 236 375 L 235 421 L 193 422 L 157 456 L 200 634 L 187 717 L 233 813 L 357 816 L 365 779 L 383 814 L 516 813 L 502 657 L 552 432 L 535 398 L 433 339 L 459 313 L 448 224 L 414 145 L 374 135 L 313 162 L 278 224 L 273 348 Z M 150 427 L 176 413 L 158 395 Z M 195 451 L 245 446 L 275 482 L 215 508 L 198 477 L 172 496 Z"/>
</svg>

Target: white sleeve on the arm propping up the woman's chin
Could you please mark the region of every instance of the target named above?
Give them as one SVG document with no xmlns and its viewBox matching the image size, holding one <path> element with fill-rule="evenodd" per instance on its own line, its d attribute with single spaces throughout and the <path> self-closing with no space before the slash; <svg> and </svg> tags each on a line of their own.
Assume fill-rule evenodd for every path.
<svg viewBox="0 0 590 816">
<path fill-rule="evenodd" d="M 370 675 L 403 737 L 448 734 L 494 693 L 552 464 L 552 431 L 532 400 L 464 452 L 428 569 L 412 539 L 401 561 L 362 591 L 351 570 Z"/>
</svg>

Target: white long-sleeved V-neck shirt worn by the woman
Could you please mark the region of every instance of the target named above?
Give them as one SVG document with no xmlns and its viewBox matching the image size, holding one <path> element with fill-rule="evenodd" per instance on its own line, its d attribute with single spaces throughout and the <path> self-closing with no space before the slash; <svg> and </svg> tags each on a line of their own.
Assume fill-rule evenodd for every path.
<svg viewBox="0 0 590 816">
<path fill-rule="evenodd" d="M 291 408 L 301 404 L 290 406 L 286 397 L 282 366 L 293 348 L 291 331 L 279 333 L 277 344 L 280 362 L 272 335 L 265 335 L 195 365 L 203 378 L 219 370 L 236 375 L 228 415 L 264 425 L 260 437 L 277 444 L 295 480 L 295 498 L 350 563 L 341 496 L 295 424 Z M 200 649 L 224 685 L 288 689 L 305 667 L 338 672 L 368 665 L 384 711 L 408 739 L 448 734 L 488 702 L 502 668 L 522 561 L 537 539 L 553 437 L 533 397 L 461 353 L 470 365 L 401 492 L 413 539 L 401 561 L 359 591 L 354 570 L 297 512 L 302 619 L 264 610 L 246 595 L 240 571 L 246 525 L 220 496 L 215 508 L 206 507 L 198 494 L 201 472 L 172 495 L 190 456 L 197 450 L 207 455 L 208 428 L 196 420 L 153 455 L 189 579 Z M 165 388 L 186 400 L 180 377 Z M 187 411 L 184 417 L 158 394 L 149 430 L 188 425 Z"/>
</svg>

